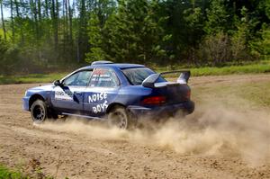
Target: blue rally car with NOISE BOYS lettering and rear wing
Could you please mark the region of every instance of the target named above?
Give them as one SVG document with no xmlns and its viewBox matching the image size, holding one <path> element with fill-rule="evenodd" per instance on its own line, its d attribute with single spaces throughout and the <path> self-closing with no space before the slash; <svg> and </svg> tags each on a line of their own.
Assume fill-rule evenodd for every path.
<svg viewBox="0 0 270 179">
<path fill-rule="evenodd" d="M 176 82 L 162 77 L 175 72 L 181 73 Z M 140 117 L 160 120 L 179 111 L 184 115 L 193 112 L 189 77 L 189 71 L 157 74 L 142 65 L 95 61 L 52 85 L 28 89 L 23 109 L 38 123 L 72 115 L 105 119 L 128 129 Z"/>
</svg>

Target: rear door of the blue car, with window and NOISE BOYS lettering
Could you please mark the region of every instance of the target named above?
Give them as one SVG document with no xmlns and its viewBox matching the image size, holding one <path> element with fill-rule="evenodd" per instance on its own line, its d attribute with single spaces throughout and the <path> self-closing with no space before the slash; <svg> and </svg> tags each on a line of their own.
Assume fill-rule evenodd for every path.
<svg viewBox="0 0 270 179">
<path fill-rule="evenodd" d="M 113 103 L 120 88 L 120 81 L 111 68 L 94 69 L 84 94 L 84 111 L 92 117 L 103 117 Z"/>
</svg>

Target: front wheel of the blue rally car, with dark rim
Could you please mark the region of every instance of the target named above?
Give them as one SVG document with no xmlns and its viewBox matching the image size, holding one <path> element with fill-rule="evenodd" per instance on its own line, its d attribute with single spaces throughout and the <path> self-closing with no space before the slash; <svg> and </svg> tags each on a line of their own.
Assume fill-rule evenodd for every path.
<svg viewBox="0 0 270 179">
<path fill-rule="evenodd" d="M 36 123 L 41 123 L 48 118 L 48 112 L 46 104 L 37 100 L 31 104 L 31 119 Z"/>
</svg>

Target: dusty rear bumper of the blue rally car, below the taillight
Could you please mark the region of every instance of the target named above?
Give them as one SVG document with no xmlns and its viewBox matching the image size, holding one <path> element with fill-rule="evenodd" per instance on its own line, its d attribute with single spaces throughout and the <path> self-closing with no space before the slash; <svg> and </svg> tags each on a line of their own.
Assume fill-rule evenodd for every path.
<svg viewBox="0 0 270 179">
<path fill-rule="evenodd" d="M 154 108 L 148 108 L 143 106 L 129 106 L 128 110 L 136 117 L 148 117 L 150 119 L 158 119 L 164 116 L 174 116 L 176 112 L 184 112 L 184 114 L 190 114 L 194 111 L 195 104 L 193 101 L 187 101 L 184 103 L 170 104 L 166 106 L 157 106 Z"/>
</svg>

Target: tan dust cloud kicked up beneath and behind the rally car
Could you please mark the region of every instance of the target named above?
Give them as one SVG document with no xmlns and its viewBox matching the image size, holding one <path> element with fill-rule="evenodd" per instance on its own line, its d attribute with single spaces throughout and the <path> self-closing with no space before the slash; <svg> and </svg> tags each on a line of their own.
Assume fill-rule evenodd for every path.
<svg viewBox="0 0 270 179">
<path fill-rule="evenodd" d="M 220 103 L 200 103 L 184 119 L 163 123 L 141 120 L 144 128 L 119 130 L 93 121 L 67 119 L 38 125 L 46 130 L 74 132 L 94 139 L 129 140 L 141 145 L 172 149 L 181 155 L 240 155 L 257 166 L 270 158 L 270 115 L 251 108 L 238 111 Z"/>
</svg>

